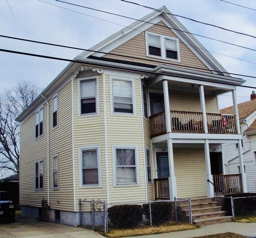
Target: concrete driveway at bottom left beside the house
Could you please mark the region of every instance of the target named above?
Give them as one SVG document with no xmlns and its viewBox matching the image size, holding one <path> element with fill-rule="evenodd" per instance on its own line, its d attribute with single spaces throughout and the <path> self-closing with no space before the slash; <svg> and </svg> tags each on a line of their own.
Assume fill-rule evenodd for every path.
<svg viewBox="0 0 256 238">
<path fill-rule="evenodd" d="M 0 238 L 10 237 L 99 238 L 103 236 L 83 227 L 71 227 L 57 223 L 36 221 L 35 219 L 24 217 L 16 217 L 14 223 L 0 224 Z"/>
</svg>

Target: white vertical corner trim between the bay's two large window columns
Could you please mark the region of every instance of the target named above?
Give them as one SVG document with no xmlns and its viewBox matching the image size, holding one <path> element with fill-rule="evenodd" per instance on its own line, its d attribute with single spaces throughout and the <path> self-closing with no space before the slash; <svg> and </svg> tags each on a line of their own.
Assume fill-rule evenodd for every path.
<svg viewBox="0 0 256 238">
<path fill-rule="evenodd" d="M 104 114 L 104 139 L 105 139 L 105 167 L 106 167 L 106 187 L 107 187 L 107 203 L 109 200 L 109 177 L 108 177 L 108 152 L 107 152 L 107 109 L 106 109 L 106 80 L 103 73 L 103 114 Z"/>
</svg>

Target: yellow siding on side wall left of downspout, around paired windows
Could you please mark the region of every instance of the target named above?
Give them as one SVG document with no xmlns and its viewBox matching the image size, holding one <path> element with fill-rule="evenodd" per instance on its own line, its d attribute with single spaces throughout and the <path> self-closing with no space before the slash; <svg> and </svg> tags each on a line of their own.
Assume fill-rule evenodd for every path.
<svg viewBox="0 0 256 238">
<path fill-rule="evenodd" d="M 35 113 L 20 128 L 20 205 L 42 206 L 47 197 L 47 104 L 44 104 L 43 135 L 35 138 Z M 44 190 L 35 191 L 35 162 L 43 160 Z"/>
</svg>

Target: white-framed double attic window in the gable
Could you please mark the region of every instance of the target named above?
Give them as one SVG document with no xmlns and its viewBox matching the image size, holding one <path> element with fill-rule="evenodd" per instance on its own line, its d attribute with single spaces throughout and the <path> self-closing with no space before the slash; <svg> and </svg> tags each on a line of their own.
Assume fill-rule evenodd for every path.
<svg viewBox="0 0 256 238">
<path fill-rule="evenodd" d="M 146 32 L 147 56 L 179 61 L 179 39 Z"/>
</svg>

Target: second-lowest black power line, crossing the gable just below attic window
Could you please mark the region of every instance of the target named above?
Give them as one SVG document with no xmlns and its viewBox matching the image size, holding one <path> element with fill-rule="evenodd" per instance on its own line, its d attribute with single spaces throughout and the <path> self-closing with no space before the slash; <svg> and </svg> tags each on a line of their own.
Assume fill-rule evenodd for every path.
<svg viewBox="0 0 256 238">
<path fill-rule="evenodd" d="M 67 45 L 58 45 L 58 44 L 53 44 L 53 43 L 46 43 L 46 42 L 43 42 L 43 41 L 33 41 L 33 40 L 29 40 L 29 39 L 22 39 L 22 38 L 18 38 L 18 37 L 10 37 L 10 36 L 5 36 L 5 35 L 0 35 L 0 37 L 20 40 L 20 41 L 28 41 L 28 42 L 33 42 L 33 43 L 39 43 L 39 44 L 43 44 L 43 45 L 52 45 L 52 46 L 58 46 L 58 47 L 63 47 L 63 48 L 70 48 L 70 49 L 74 49 L 74 50 L 83 50 L 83 51 L 89 51 L 89 52 L 95 52 L 95 53 L 101 53 L 101 54 L 108 54 L 108 55 L 113 55 L 113 56 L 120 56 L 120 57 L 124 57 L 124 58 L 131 58 L 131 59 L 137 59 L 137 60 L 145 61 L 144 58 L 140 58 L 140 57 L 136 57 L 136 56 L 126 56 L 126 55 L 122 55 L 122 54 L 107 53 L 107 52 L 102 52 L 102 51 L 98 51 L 98 50 L 88 50 L 88 49 L 83 49 L 83 48 L 71 47 L 71 46 L 67 46 Z M 219 53 L 217 53 L 217 54 L 219 54 Z M 232 57 L 232 56 L 229 56 L 229 57 Z M 162 61 L 153 60 L 153 59 L 147 59 L 147 61 L 163 64 Z M 253 63 L 253 62 L 251 62 L 251 63 Z M 164 64 L 165 65 L 179 66 L 175 63 L 168 63 L 168 62 L 166 62 Z M 223 71 L 207 69 L 207 68 L 200 68 L 200 67 L 195 67 L 195 66 L 190 66 L 190 65 L 182 65 L 182 66 L 183 67 L 188 67 L 188 68 L 191 68 L 191 69 L 202 69 L 202 70 L 206 70 L 206 71 L 210 71 L 210 72 L 217 72 L 217 73 L 222 73 L 222 74 L 232 74 L 232 73 L 227 73 L 227 72 L 223 72 Z M 233 74 L 233 75 L 236 75 L 236 74 Z M 238 76 L 243 76 L 243 75 L 240 75 L 240 74 L 237 74 L 237 75 Z M 245 77 L 247 77 L 247 76 L 245 76 Z"/>
</svg>

